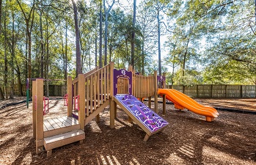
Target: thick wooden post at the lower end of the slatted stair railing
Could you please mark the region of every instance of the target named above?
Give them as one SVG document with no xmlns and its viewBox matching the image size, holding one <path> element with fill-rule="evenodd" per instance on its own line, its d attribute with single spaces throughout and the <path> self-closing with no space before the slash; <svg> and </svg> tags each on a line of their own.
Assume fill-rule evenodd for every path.
<svg viewBox="0 0 256 165">
<path fill-rule="evenodd" d="M 85 117 L 85 83 L 84 74 L 78 75 L 78 95 L 79 95 L 79 111 L 78 111 L 78 122 L 80 129 L 84 130 L 84 117 Z M 88 107 L 87 107 L 88 108 Z M 89 111 L 89 109 L 87 109 Z"/>
</svg>

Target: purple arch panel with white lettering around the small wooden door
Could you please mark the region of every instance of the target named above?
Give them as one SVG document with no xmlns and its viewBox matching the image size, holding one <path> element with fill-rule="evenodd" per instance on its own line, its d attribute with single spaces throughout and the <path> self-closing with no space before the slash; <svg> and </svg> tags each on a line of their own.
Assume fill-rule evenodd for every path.
<svg viewBox="0 0 256 165">
<path fill-rule="evenodd" d="M 132 94 L 132 82 L 133 82 L 133 73 L 128 72 L 127 70 L 116 70 L 114 69 L 114 95 L 117 95 L 117 79 L 120 77 L 129 79 L 129 94 Z"/>
</svg>

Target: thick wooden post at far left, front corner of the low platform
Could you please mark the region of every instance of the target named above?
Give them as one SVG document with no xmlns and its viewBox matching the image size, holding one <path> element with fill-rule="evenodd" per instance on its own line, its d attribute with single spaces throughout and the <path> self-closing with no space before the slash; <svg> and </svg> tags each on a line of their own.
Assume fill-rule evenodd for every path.
<svg viewBox="0 0 256 165">
<path fill-rule="evenodd" d="M 37 114 L 36 114 L 36 153 L 43 152 L 43 78 L 36 80 L 36 101 L 37 101 Z"/>
</svg>

